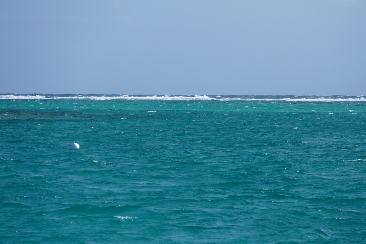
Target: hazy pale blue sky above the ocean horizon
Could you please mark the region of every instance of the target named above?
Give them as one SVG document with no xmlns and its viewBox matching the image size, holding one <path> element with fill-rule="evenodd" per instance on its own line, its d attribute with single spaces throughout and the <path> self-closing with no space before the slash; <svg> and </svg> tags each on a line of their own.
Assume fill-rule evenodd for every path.
<svg viewBox="0 0 366 244">
<path fill-rule="evenodd" d="M 366 1 L 1 0 L 0 93 L 366 95 Z"/>
</svg>

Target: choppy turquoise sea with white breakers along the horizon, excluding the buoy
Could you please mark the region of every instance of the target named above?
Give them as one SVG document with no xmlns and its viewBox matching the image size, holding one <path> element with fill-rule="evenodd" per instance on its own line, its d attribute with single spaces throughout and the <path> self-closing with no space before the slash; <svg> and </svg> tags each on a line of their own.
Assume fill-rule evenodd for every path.
<svg viewBox="0 0 366 244">
<path fill-rule="evenodd" d="M 1 94 L 0 243 L 366 243 L 366 96 Z"/>
</svg>

